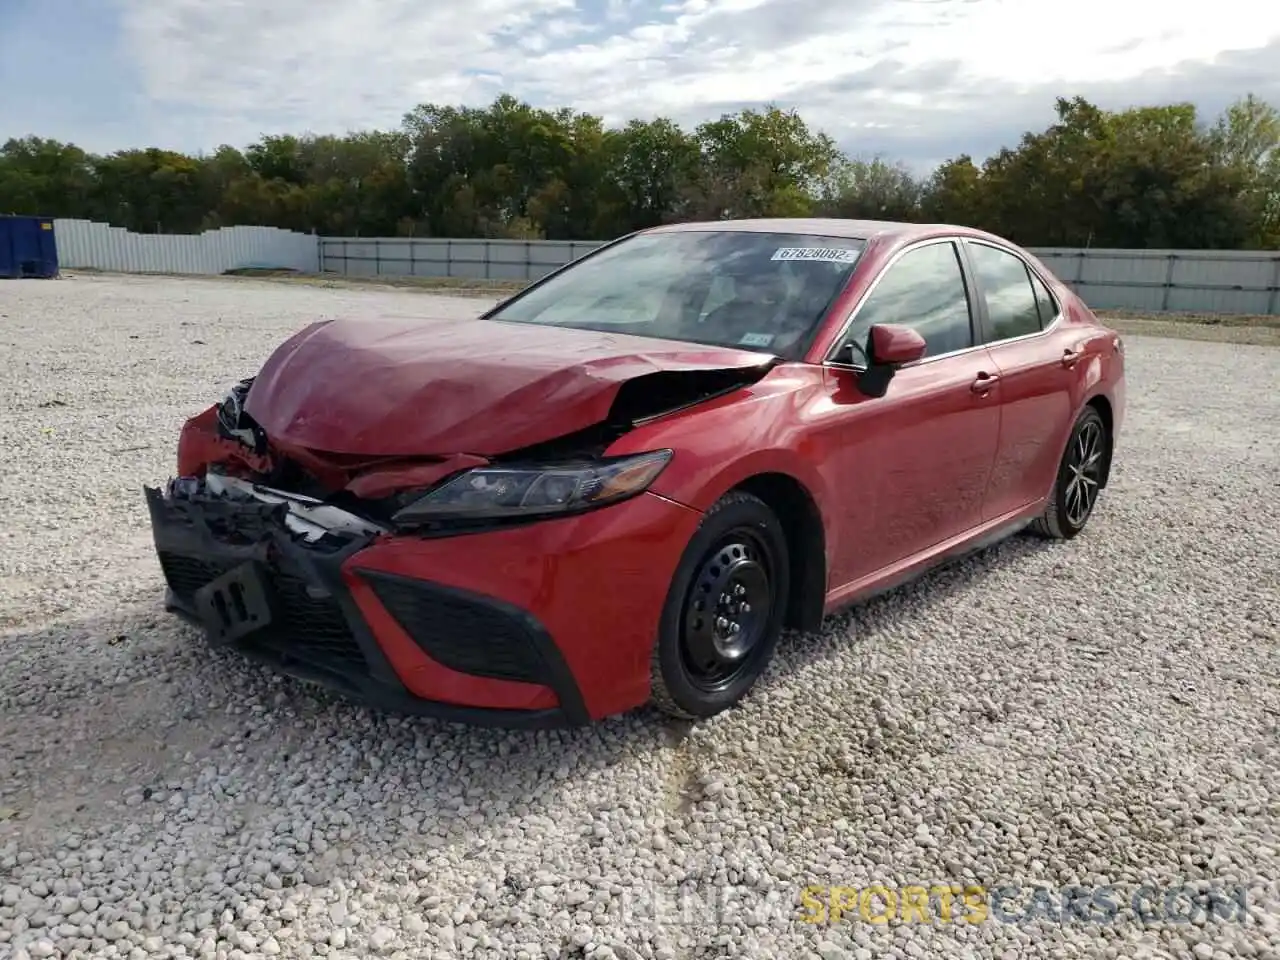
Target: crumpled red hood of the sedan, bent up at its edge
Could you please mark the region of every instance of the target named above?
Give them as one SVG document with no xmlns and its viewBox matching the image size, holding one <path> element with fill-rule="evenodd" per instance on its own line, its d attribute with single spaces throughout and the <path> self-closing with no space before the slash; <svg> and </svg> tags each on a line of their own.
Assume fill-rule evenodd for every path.
<svg viewBox="0 0 1280 960">
<path fill-rule="evenodd" d="M 771 360 L 493 320 L 333 320 L 285 340 L 257 374 L 244 408 L 271 440 L 312 451 L 495 456 L 604 421 L 634 378 Z"/>
</svg>

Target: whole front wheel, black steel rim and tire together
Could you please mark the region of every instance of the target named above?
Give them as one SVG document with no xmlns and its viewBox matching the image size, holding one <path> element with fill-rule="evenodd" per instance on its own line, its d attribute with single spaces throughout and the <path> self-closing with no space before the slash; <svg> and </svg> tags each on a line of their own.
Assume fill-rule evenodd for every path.
<svg viewBox="0 0 1280 960">
<path fill-rule="evenodd" d="M 790 589 L 777 515 L 748 493 L 717 502 L 685 548 L 663 605 L 653 704 L 699 719 L 741 700 L 773 657 Z"/>
</svg>

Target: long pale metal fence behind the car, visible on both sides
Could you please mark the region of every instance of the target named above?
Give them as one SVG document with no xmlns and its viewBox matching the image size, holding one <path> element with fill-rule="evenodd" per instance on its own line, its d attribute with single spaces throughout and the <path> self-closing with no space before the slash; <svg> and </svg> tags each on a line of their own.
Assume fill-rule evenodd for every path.
<svg viewBox="0 0 1280 960">
<path fill-rule="evenodd" d="M 274 227 L 198 236 L 136 234 L 56 220 L 64 268 L 221 274 L 276 268 L 349 276 L 534 280 L 595 250 L 591 241 L 315 237 Z M 1280 315 L 1280 251 L 1033 250 L 1093 307 Z"/>
</svg>

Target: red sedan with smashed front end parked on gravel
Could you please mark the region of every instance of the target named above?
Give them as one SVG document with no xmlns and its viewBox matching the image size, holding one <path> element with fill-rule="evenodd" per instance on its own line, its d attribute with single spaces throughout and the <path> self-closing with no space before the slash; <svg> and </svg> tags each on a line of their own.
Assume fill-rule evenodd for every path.
<svg viewBox="0 0 1280 960">
<path fill-rule="evenodd" d="M 375 705 L 707 717 L 783 627 L 1107 485 L 1120 338 L 957 227 L 609 243 L 477 320 L 335 320 L 189 420 L 147 489 L 166 602 Z"/>
</svg>

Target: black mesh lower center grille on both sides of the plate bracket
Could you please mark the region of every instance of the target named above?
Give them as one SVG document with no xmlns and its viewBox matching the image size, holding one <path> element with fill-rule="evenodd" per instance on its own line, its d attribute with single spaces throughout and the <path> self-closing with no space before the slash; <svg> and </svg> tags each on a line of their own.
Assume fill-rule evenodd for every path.
<svg viewBox="0 0 1280 960">
<path fill-rule="evenodd" d="M 175 594 L 189 600 L 201 586 L 236 566 L 175 553 L 161 553 L 160 566 Z M 333 596 L 312 596 L 303 580 L 273 570 L 269 588 L 274 600 L 271 626 L 241 644 L 276 659 L 297 659 L 338 673 L 367 675 L 365 659 L 342 607 Z"/>
</svg>

